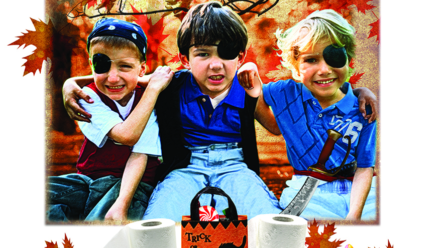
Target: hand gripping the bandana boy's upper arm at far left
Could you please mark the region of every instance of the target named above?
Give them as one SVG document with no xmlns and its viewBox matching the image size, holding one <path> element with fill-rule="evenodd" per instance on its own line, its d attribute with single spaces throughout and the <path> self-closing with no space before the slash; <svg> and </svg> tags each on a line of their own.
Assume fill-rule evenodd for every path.
<svg viewBox="0 0 442 248">
<path fill-rule="evenodd" d="M 93 100 L 84 93 L 83 90 L 75 83 L 75 80 L 72 78 L 66 80 L 63 85 L 63 103 L 64 108 L 66 109 L 69 117 L 72 120 L 76 121 L 85 121 L 90 122 L 90 117 L 92 117 L 89 113 L 84 111 L 84 109 L 80 108 L 78 105 L 78 100 L 83 99 L 87 103 L 93 103 Z"/>
</svg>

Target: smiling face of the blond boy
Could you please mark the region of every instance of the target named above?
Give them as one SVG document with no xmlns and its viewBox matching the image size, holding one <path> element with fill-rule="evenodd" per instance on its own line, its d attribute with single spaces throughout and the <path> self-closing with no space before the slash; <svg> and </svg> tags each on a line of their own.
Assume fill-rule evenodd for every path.
<svg viewBox="0 0 442 248">
<path fill-rule="evenodd" d="M 316 99 L 334 103 L 344 97 L 339 88 L 348 78 L 349 62 L 347 60 L 345 66 L 341 68 L 329 66 L 322 56 L 324 48 L 329 45 L 330 42 L 318 43 L 314 49 L 309 48 L 302 52 L 297 59 L 298 72 L 302 83 Z"/>
</svg>

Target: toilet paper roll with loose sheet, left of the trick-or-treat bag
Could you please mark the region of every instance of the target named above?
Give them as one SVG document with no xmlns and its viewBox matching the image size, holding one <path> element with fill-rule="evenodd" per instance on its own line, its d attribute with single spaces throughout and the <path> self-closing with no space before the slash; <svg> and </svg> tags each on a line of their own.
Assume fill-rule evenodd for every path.
<svg viewBox="0 0 442 248">
<path fill-rule="evenodd" d="M 125 225 L 104 248 L 176 248 L 175 221 L 140 220 Z"/>
</svg>

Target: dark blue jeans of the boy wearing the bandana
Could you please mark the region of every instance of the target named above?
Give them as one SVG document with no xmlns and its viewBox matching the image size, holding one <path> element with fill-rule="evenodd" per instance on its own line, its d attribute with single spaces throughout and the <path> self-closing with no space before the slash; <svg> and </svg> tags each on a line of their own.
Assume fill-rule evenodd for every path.
<svg viewBox="0 0 442 248">
<path fill-rule="evenodd" d="M 47 181 L 47 220 L 103 220 L 117 199 L 120 186 L 121 178 L 114 176 L 96 180 L 81 174 L 50 176 Z M 151 185 L 140 182 L 128 210 L 128 219 L 141 219 L 152 191 Z"/>
</svg>

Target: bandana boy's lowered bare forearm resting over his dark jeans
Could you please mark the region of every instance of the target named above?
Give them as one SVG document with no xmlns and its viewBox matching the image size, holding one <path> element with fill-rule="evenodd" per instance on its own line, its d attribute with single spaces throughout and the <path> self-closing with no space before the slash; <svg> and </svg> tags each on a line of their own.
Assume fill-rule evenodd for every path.
<svg viewBox="0 0 442 248">
<path fill-rule="evenodd" d="M 120 194 L 107 211 L 104 217 L 105 220 L 127 219 L 132 198 L 146 169 L 147 158 L 147 154 L 144 153 L 131 153 L 123 172 Z"/>
</svg>

